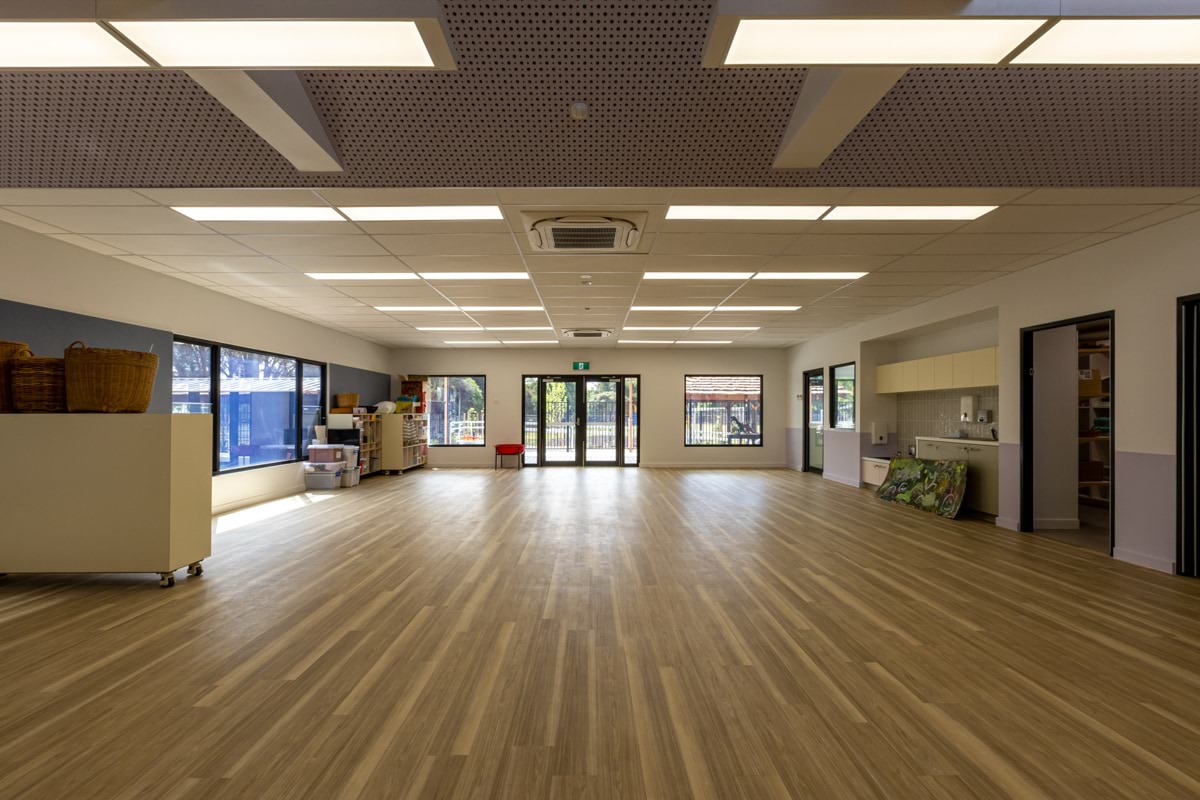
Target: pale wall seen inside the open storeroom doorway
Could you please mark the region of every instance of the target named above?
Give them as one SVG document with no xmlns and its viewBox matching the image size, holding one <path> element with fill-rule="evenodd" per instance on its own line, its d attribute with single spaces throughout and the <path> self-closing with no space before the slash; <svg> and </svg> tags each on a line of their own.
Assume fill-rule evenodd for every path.
<svg viewBox="0 0 1200 800">
<path fill-rule="evenodd" d="M 1079 333 L 1033 335 L 1033 528 L 1079 528 Z"/>
</svg>

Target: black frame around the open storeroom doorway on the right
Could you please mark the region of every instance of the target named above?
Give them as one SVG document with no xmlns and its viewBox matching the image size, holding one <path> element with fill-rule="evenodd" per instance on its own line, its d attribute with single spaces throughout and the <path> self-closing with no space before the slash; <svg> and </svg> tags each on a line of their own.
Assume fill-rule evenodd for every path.
<svg viewBox="0 0 1200 800">
<path fill-rule="evenodd" d="M 1109 321 L 1109 555 L 1116 542 L 1117 525 L 1117 313 L 1106 311 L 1087 317 L 1061 319 L 1056 323 L 1021 329 L 1021 518 L 1019 529 L 1033 531 L 1033 335 L 1055 327 L 1081 325 L 1098 320 Z"/>
</svg>

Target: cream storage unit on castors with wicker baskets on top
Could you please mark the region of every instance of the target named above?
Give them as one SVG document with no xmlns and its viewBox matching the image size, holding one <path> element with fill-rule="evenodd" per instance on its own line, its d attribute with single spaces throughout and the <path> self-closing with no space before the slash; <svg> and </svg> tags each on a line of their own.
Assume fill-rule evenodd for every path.
<svg viewBox="0 0 1200 800">
<path fill-rule="evenodd" d="M 0 573 L 199 575 L 212 552 L 209 414 L 2 414 Z"/>
</svg>

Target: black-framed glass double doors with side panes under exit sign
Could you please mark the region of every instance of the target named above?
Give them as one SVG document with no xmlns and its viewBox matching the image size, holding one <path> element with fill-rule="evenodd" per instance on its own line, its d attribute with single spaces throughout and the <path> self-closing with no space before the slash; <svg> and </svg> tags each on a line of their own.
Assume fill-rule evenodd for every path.
<svg viewBox="0 0 1200 800">
<path fill-rule="evenodd" d="M 526 375 L 526 464 L 635 467 L 636 375 Z"/>
</svg>

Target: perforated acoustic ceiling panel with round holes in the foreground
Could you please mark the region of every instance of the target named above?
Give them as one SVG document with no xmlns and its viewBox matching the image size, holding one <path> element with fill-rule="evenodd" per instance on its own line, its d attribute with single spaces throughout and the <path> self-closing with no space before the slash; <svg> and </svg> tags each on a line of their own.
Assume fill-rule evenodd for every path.
<svg viewBox="0 0 1200 800">
<path fill-rule="evenodd" d="M 824 167 L 776 170 L 805 72 L 702 68 L 712 1 L 442 5 L 456 72 L 302 73 L 343 174 L 296 173 L 180 73 L 0 73 L 0 184 L 1200 184 L 1192 67 L 912 70 Z"/>
</svg>

